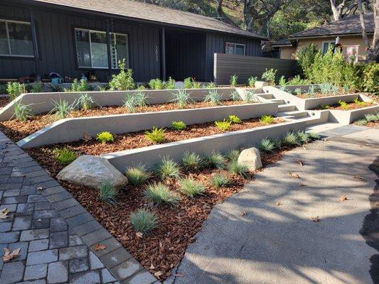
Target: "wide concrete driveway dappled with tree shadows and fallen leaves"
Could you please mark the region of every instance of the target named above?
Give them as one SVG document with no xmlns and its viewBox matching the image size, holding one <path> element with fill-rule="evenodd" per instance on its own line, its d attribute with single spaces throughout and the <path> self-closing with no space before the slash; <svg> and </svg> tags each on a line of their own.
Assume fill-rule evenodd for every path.
<svg viewBox="0 0 379 284">
<path fill-rule="evenodd" d="M 327 134 L 216 206 L 166 283 L 379 283 L 379 130 Z"/>
</svg>

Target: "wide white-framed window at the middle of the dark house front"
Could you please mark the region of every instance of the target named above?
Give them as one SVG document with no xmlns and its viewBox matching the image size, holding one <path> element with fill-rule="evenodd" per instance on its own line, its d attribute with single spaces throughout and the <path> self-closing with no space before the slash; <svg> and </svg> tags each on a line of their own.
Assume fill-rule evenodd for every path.
<svg viewBox="0 0 379 284">
<path fill-rule="evenodd" d="M 108 68 L 107 33 L 75 28 L 76 57 L 78 67 Z M 129 66 L 128 38 L 121 33 L 110 33 L 112 69 L 118 68 L 118 61 L 125 58 Z"/>
</svg>

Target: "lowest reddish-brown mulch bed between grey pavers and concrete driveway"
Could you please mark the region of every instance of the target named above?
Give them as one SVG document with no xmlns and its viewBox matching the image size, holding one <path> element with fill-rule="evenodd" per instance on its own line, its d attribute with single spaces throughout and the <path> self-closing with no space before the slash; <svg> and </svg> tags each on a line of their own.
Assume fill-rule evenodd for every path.
<svg viewBox="0 0 379 284">
<path fill-rule="evenodd" d="M 263 154 L 263 165 L 269 165 L 282 158 L 285 151 Z M 50 175 L 55 176 L 62 170 L 63 165 L 58 163 L 43 149 L 26 150 Z M 211 176 L 222 173 L 230 178 L 230 184 L 216 189 L 210 185 Z M 73 185 L 68 182 L 60 182 L 98 222 L 105 226 L 134 258 L 153 275 L 159 275 L 159 280 L 169 277 L 172 268 L 178 265 L 183 258 L 188 244 L 195 241 L 196 233 L 201 229 L 210 210 L 226 198 L 239 192 L 249 180 L 233 175 L 226 170 L 205 169 L 201 172 L 188 173 L 206 186 L 204 195 L 193 199 L 181 195 L 178 192 L 176 181 L 167 181 L 166 185 L 177 192 L 181 197 L 180 202 L 174 207 L 153 207 L 144 198 L 144 185 L 126 187 L 119 190 L 116 205 L 107 205 L 100 202 L 97 192 L 89 187 Z M 154 182 L 155 180 L 149 180 Z M 274 202 L 274 201 L 273 201 Z M 139 237 L 132 229 L 129 222 L 129 214 L 139 208 L 149 207 L 159 217 L 159 226 L 153 234 Z M 246 214 L 241 212 L 241 216 Z"/>
</svg>

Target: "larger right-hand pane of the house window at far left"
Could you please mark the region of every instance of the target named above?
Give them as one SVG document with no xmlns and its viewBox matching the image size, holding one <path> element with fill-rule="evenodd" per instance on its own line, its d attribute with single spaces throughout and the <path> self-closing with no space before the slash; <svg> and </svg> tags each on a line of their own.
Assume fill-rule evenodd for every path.
<svg viewBox="0 0 379 284">
<path fill-rule="evenodd" d="M 12 55 L 33 56 L 31 25 L 25 23 L 8 22 L 8 32 Z"/>
</svg>

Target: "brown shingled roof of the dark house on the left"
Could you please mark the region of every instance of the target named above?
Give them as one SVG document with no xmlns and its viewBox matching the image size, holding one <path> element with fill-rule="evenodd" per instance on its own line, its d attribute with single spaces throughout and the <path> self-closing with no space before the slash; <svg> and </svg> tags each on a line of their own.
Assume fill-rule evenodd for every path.
<svg viewBox="0 0 379 284">
<path fill-rule="evenodd" d="M 251 38 L 266 39 L 257 33 L 243 31 L 215 18 L 201 16 L 176 9 L 169 9 L 154 4 L 131 0 L 29 0 L 29 3 L 53 4 L 74 9 L 96 11 L 110 15 L 124 16 L 131 19 L 142 19 L 154 23 L 166 23 L 174 26 L 191 27 L 206 31 L 233 33 Z"/>
</svg>

